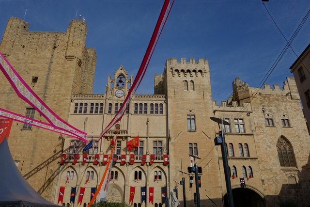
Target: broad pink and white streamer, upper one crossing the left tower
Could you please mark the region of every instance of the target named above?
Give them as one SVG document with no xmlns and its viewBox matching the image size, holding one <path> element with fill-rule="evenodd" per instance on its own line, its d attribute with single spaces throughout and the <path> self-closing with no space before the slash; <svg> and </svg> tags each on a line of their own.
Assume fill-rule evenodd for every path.
<svg viewBox="0 0 310 207">
<path fill-rule="evenodd" d="M 0 70 L 10 82 L 18 97 L 30 104 L 36 111 L 39 111 L 47 121 L 56 129 L 60 129 L 72 134 L 83 142 L 87 142 L 87 133 L 71 126 L 54 111 L 52 111 L 40 98 L 37 96 L 27 83 L 18 75 L 13 66 L 5 59 L 0 52 Z"/>
</svg>

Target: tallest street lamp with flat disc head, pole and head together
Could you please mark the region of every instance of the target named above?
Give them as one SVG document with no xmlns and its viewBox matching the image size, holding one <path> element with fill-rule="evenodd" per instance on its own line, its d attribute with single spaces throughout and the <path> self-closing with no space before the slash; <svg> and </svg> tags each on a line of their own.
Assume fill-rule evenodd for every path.
<svg viewBox="0 0 310 207">
<path fill-rule="evenodd" d="M 223 120 L 222 118 L 210 117 L 210 119 L 212 121 L 217 122 L 218 127 L 219 127 L 219 124 L 221 124 L 221 127 L 223 125 L 230 125 L 227 121 Z M 221 128 L 221 130 L 218 131 L 218 135 L 219 136 L 214 139 L 214 143 L 215 143 L 215 145 L 221 145 L 222 160 L 223 160 L 223 167 L 224 167 L 224 175 L 225 175 L 225 182 L 226 182 L 226 190 L 227 190 L 227 197 L 228 197 L 228 204 L 229 204 L 229 207 L 233 207 L 233 191 L 232 191 L 231 179 L 230 179 L 230 176 L 229 176 L 227 152 L 226 152 L 226 149 L 225 149 L 225 133 L 224 133 L 223 128 Z"/>
</svg>

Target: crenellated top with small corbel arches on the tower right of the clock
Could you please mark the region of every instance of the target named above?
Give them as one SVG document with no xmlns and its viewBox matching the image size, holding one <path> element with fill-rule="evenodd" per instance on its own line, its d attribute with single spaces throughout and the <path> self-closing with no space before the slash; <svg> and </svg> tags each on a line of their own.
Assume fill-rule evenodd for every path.
<svg viewBox="0 0 310 207">
<path fill-rule="evenodd" d="M 198 78 L 205 77 L 210 71 L 208 61 L 202 58 L 199 62 L 194 58 L 190 58 L 189 62 L 186 62 L 186 58 L 181 58 L 180 62 L 176 58 L 170 58 L 166 61 L 165 72 L 171 73 L 173 77 Z"/>
</svg>

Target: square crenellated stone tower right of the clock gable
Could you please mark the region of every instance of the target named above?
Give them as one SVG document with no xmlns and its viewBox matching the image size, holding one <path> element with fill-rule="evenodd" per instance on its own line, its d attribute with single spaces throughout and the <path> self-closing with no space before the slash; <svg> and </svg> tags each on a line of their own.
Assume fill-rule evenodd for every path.
<svg viewBox="0 0 310 207">
<path fill-rule="evenodd" d="M 155 82 L 156 85 L 160 83 Z M 215 123 L 210 119 L 213 108 L 208 61 L 199 59 L 199 62 L 195 62 L 195 59 L 190 59 L 186 62 L 185 58 L 181 58 L 181 62 L 177 62 L 176 58 L 168 59 L 163 75 L 163 93 L 167 96 L 169 111 L 170 176 L 178 181 L 182 180 L 179 170 L 188 172 L 188 154 L 198 155 L 202 158 L 197 160 L 201 176 L 201 201 L 203 204 L 210 202 L 213 205 L 207 197 L 209 196 L 220 205 L 221 201 L 216 199 L 221 197 L 221 188 L 217 149 L 213 142 Z M 189 176 L 193 175 L 194 173 L 190 173 Z M 188 185 L 186 175 L 186 186 Z M 194 200 L 194 193 L 196 194 L 195 178 L 193 187 L 186 190 L 186 200 Z M 179 191 L 179 197 L 182 196 L 183 193 Z M 194 203 L 191 205 L 194 206 Z"/>
</svg>

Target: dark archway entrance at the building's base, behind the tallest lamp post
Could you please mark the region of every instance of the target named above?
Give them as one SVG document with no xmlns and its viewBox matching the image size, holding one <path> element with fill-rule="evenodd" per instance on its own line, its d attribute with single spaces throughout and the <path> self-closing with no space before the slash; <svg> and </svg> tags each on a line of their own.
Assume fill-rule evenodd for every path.
<svg viewBox="0 0 310 207">
<path fill-rule="evenodd" d="M 247 188 L 233 189 L 233 205 L 235 207 L 265 207 L 263 198 Z M 228 207 L 227 193 L 224 195 L 224 207 Z"/>
</svg>

